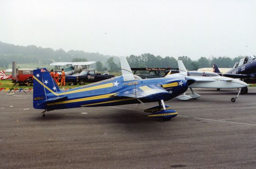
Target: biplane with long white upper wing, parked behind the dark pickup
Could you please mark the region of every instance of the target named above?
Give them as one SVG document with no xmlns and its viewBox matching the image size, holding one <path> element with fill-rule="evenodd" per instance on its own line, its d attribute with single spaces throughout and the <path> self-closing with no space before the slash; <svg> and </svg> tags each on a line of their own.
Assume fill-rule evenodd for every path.
<svg viewBox="0 0 256 169">
<path fill-rule="evenodd" d="M 66 68 L 64 68 L 65 74 L 72 75 L 81 73 L 84 69 L 89 69 L 89 66 L 94 63 L 95 62 L 54 62 L 51 63 L 50 66 L 55 66 L 56 70 L 60 70 L 60 66 L 66 66 Z M 82 65 L 84 67 L 82 67 Z"/>
</svg>

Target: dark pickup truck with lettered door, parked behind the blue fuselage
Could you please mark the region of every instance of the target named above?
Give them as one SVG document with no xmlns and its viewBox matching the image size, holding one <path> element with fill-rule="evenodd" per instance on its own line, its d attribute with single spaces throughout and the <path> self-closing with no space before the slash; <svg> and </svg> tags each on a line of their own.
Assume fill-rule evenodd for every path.
<svg viewBox="0 0 256 169">
<path fill-rule="evenodd" d="M 73 74 L 66 76 L 66 83 L 68 85 L 84 85 L 85 83 L 99 82 L 109 78 L 114 78 L 114 75 L 97 74 L 95 70 L 83 70 L 80 74 Z"/>
</svg>

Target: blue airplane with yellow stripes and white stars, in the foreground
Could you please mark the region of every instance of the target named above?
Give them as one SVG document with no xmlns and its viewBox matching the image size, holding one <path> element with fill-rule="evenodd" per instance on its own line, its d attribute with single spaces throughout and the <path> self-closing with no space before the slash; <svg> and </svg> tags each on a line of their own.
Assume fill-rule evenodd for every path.
<svg viewBox="0 0 256 169">
<path fill-rule="evenodd" d="M 192 78 L 141 79 L 133 75 L 125 57 L 120 58 L 122 76 L 62 91 L 46 68 L 33 71 L 33 107 L 46 111 L 75 107 L 113 106 L 156 102 L 158 105 L 144 110 L 148 117 L 170 120 L 178 112 L 164 101 L 172 99 L 195 82 Z"/>
</svg>

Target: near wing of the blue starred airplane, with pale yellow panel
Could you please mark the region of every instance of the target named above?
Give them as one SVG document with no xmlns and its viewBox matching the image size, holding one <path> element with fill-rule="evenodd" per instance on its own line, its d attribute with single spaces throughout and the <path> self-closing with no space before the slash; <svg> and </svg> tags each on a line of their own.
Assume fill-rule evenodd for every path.
<svg viewBox="0 0 256 169">
<path fill-rule="evenodd" d="M 169 92 L 158 85 L 144 85 L 140 87 L 136 87 L 134 89 L 122 91 L 113 96 L 124 96 L 124 97 L 133 97 L 133 98 L 143 98 L 150 97 L 155 95 L 168 94 Z"/>
</svg>

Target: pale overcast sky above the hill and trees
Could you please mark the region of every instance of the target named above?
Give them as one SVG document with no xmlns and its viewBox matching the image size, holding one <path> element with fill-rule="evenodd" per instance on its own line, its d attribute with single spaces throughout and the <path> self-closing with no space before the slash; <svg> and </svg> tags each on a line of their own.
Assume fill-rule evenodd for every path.
<svg viewBox="0 0 256 169">
<path fill-rule="evenodd" d="M 0 0 L 0 41 L 115 56 L 256 55 L 256 0 Z"/>
</svg>

